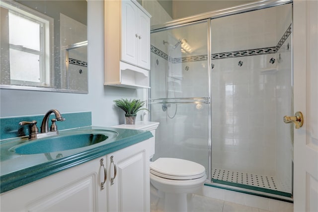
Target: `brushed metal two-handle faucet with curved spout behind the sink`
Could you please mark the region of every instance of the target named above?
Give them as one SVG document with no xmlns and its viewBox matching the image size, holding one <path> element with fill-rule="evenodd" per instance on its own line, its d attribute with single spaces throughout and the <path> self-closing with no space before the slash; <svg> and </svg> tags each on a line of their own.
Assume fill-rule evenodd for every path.
<svg viewBox="0 0 318 212">
<path fill-rule="evenodd" d="M 54 113 L 55 114 L 55 119 L 52 119 L 52 125 L 50 127 L 49 130 L 49 118 L 50 115 Z M 41 133 L 39 133 L 38 128 L 36 127 L 36 121 L 31 121 L 31 122 L 20 122 L 19 125 L 32 125 L 31 130 L 30 130 L 30 136 L 29 139 L 39 139 L 39 138 L 43 138 L 43 137 L 47 137 L 47 136 L 53 136 L 53 135 L 58 135 L 59 131 L 58 131 L 58 127 L 56 126 L 55 122 L 56 121 L 65 121 L 65 119 L 62 117 L 61 113 L 56 110 L 56 109 L 52 109 L 49 110 L 45 115 L 44 118 L 42 120 L 42 124 L 41 124 Z"/>
</svg>

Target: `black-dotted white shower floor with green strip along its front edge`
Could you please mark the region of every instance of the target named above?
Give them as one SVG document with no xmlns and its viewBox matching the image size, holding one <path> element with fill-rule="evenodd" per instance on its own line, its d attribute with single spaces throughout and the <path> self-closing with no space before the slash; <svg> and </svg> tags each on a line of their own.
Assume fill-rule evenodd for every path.
<svg viewBox="0 0 318 212">
<path fill-rule="evenodd" d="M 292 198 L 291 187 L 272 176 L 256 175 L 238 171 L 212 168 L 212 182 L 215 184 L 247 189 L 261 193 Z M 275 198 L 276 199 L 276 198 Z"/>
</svg>

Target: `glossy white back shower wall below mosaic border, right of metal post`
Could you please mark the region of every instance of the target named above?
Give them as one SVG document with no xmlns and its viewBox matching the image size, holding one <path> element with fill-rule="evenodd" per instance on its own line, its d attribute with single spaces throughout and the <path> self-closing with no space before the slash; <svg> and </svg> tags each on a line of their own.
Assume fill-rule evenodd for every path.
<svg viewBox="0 0 318 212">
<path fill-rule="evenodd" d="M 261 72 L 273 66 L 272 57 L 275 54 L 213 61 L 212 167 L 275 174 L 276 80 Z"/>
</svg>

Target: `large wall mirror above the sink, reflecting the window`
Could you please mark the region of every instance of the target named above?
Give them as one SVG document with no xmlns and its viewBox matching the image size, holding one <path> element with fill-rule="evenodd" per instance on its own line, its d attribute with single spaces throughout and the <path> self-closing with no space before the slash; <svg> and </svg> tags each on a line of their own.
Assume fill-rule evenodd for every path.
<svg viewBox="0 0 318 212">
<path fill-rule="evenodd" d="M 0 1 L 0 88 L 88 93 L 87 1 Z"/>
</svg>

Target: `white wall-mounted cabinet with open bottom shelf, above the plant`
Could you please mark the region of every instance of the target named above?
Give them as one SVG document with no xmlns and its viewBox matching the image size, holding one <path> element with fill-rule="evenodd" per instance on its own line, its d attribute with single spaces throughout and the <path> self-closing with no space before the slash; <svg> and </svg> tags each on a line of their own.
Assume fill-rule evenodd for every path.
<svg viewBox="0 0 318 212">
<path fill-rule="evenodd" d="M 104 1 L 104 85 L 149 87 L 150 17 L 136 0 Z"/>
</svg>

